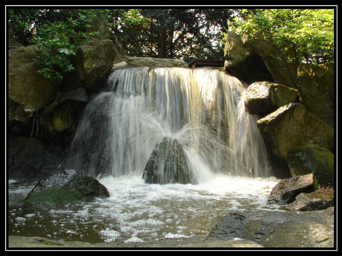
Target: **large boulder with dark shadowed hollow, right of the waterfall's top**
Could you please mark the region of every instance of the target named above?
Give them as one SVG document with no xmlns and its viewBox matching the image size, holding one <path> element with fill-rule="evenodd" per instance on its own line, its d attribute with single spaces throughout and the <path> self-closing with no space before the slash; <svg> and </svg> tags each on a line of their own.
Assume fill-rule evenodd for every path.
<svg viewBox="0 0 342 256">
<path fill-rule="evenodd" d="M 257 81 L 273 81 L 296 88 L 296 61 L 288 63 L 285 60 L 295 59 L 294 49 L 284 42 L 282 55 L 276 47 L 262 40 L 257 34 L 250 40 L 247 36 L 238 36 L 229 31 L 224 48 L 225 68 L 247 84 Z M 281 49 L 282 50 L 282 49 Z"/>
</svg>

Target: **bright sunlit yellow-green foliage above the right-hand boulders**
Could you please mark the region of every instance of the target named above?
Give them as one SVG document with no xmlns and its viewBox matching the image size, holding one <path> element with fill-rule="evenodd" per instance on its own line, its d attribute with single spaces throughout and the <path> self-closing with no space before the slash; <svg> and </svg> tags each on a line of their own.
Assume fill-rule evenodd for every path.
<svg viewBox="0 0 342 256">
<path fill-rule="evenodd" d="M 282 53 L 293 47 L 296 59 L 288 62 L 334 61 L 333 9 L 255 9 L 237 14 L 234 24 L 238 34 L 267 41 Z"/>
</svg>

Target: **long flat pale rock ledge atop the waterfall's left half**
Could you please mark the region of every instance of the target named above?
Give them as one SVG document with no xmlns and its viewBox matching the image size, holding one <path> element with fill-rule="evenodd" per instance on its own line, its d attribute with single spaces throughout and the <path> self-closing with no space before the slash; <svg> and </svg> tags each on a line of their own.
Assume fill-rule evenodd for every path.
<svg viewBox="0 0 342 256">
<path fill-rule="evenodd" d="M 184 60 L 174 59 L 121 56 L 117 60 L 120 62 L 114 63 L 112 70 L 126 67 L 188 67 Z"/>
</svg>

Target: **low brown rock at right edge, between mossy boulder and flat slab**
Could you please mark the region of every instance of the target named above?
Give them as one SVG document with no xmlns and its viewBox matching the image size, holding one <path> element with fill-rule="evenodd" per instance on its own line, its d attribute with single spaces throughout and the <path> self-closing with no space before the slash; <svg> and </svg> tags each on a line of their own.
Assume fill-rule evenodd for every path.
<svg viewBox="0 0 342 256">
<path fill-rule="evenodd" d="M 334 191 L 318 189 L 311 193 L 300 193 L 295 201 L 286 206 L 291 211 L 322 210 L 334 206 Z"/>
</svg>

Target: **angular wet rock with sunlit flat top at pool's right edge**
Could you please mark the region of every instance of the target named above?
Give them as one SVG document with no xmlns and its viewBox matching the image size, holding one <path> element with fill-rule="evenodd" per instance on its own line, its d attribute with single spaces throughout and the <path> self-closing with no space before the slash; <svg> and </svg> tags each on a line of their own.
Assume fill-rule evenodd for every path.
<svg viewBox="0 0 342 256">
<path fill-rule="evenodd" d="M 270 193 L 269 201 L 288 204 L 293 202 L 298 194 L 310 193 L 316 189 L 317 181 L 312 173 L 284 179 L 274 186 Z"/>
</svg>

